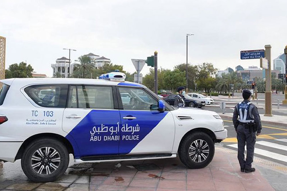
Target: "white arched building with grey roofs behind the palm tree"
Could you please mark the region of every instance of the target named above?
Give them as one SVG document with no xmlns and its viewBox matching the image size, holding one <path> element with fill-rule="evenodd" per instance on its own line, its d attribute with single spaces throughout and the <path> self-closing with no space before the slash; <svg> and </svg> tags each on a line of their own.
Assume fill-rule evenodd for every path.
<svg viewBox="0 0 287 191">
<path fill-rule="evenodd" d="M 91 63 L 95 64 L 96 68 L 100 68 L 104 66 L 106 63 L 110 63 L 111 60 L 108 58 L 105 58 L 104 56 L 100 57 L 99 55 L 89 53 L 85 54 L 84 56 L 88 56 L 91 58 Z M 56 75 L 57 72 L 61 75 L 62 78 L 68 77 L 68 71 L 70 70 L 70 75 L 73 74 L 75 65 L 80 64 L 79 60 L 75 60 L 75 62 L 70 64 L 71 69 L 69 68 L 69 59 L 66 57 L 58 58 L 56 60 L 56 64 L 51 64 L 51 67 L 53 68 L 53 76 Z"/>
</svg>

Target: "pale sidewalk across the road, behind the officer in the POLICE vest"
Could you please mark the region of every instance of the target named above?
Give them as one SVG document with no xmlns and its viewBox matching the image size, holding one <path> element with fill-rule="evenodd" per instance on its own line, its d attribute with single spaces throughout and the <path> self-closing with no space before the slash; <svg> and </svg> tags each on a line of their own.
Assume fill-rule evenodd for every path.
<svg viewBox="0 0 287 191">
<path fill-rule="evenodd" d="M 225 117 L 228 119 L 232 119 L 232 113 L 220 113 L 219 114 L 221 117 Z M 283 116 L 283 115 L 273 115 L 272 117 L 269 116 L 264 116 L 264 114 L 259 114 L 261 121 L 265 122 L 267 124 L 271 124 L 271 125 L 282 125 L 282 126 L 286 126 L 287 125 L 287 116 Z"/>
</svg>

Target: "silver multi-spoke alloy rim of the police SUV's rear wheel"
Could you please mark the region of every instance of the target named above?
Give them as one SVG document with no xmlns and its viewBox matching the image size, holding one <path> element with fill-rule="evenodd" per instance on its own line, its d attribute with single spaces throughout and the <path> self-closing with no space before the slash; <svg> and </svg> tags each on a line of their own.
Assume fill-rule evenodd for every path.
<svg viewBox="0 0 287 191">
<path fill-rule="evenodd" d="M 53 174 L 60 166 L 61 156 L 53 147 L 41 147 L 37 149 L 31 158 L 31 167 L 40 175 Z"/>
</svg>

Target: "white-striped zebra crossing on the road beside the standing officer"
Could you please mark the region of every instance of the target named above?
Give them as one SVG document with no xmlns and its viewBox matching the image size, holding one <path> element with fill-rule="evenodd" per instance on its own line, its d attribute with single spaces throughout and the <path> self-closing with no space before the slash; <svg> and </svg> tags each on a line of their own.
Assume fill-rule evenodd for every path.
<svg viewBox="0 0 287 191">
<path fill-rule="evenodd" d="M 227 147 L 238 148 L 236 144 Z M 259 148 L 258 148 L 259 147 Z M 246 146 L 245 146 L 246 150 Z M 287 139 L 273 139 L 270 141 L 256 141 L 254 153 L 287 164 Z"/>
</svg>

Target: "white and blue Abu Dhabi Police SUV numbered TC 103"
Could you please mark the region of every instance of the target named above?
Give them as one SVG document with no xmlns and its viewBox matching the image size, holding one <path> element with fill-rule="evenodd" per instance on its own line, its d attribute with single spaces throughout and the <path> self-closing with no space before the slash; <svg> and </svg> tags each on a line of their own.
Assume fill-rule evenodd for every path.
<svg viewBox="0 0 287 191">
<path fill-rule="evenodd" d="M 175 108 L 111 72 L 100 79 L 4 79 L 0 161 L 21 159 L 30 180 L 50 182 L 77 163 L 172 158 L 203 168 L 227 137 L 217 113 Z"/>
</svg>

